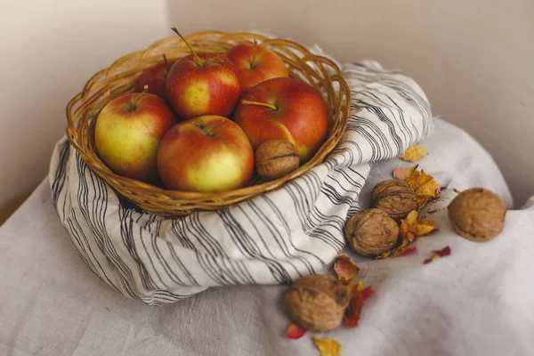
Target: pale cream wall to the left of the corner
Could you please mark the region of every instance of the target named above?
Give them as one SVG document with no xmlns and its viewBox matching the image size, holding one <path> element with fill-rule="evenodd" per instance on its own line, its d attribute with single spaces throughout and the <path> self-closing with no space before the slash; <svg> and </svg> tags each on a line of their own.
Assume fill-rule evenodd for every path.
<svg viewBox="0 0 534 356">
<path fill-rule="evenodd" d="M 3 1 L 0 220 L 40 182 L 65 105 L 118 57 L 170 36 L 165 0 Z"/>
</svg>

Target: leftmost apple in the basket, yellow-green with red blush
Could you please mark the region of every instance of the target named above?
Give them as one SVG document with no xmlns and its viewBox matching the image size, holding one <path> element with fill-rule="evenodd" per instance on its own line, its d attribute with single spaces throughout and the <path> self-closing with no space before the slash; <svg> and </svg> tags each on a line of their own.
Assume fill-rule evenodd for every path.
<svg viewBox="0 0 534 356">
<path fill-rule="evenodd" d="M 116 174 L 142 182 L 158 179 L 158 148 L 176 123 L 158 95 L 130 93 L 109 101 L 96 119 L 94 143 L 102 160 Z"/>
</svg>

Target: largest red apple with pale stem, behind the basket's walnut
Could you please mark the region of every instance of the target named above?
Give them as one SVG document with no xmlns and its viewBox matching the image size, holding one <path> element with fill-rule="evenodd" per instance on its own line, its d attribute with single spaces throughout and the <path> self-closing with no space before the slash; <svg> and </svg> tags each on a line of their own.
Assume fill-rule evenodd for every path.
<svg viewBox="0 0 534 356">
<path fill-rule="evenodd" d="M 295 145 L 301 162 L 312 158 L 328 134 L 327 105 L 302 80 L 280 77 L 250 89 L 235 109 L 238 123 L 255 149 L 269 140 Z"/>
</svg>

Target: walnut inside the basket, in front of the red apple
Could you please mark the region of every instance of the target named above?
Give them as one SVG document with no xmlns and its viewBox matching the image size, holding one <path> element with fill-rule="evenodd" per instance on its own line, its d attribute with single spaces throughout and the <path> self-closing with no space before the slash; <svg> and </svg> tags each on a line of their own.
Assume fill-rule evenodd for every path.
<svg viewBox="0 0 534 356">
<path fill-rule="evenodd" d="M 256 172 L 272 181 L 298 168 L 300 159 L 293 143 L 286 140 L 263 142 L 255 151 Z"/>
</svg>

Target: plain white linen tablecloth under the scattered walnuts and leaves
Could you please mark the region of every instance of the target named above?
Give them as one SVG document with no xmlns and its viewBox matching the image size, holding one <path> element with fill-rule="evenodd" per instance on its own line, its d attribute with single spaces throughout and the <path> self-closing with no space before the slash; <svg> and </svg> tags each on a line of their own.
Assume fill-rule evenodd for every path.
<svg viewBox="0 0 534 356">
<path fill-rule="evenodd" d="M 485 187 L 512 208 L 497 166 L 467 134 L 435 119 L 421 144 L 430 154 L 420 166 L 442 185 Z M 397 166 L 409 164 L 392 158 L 373 166 L 361 208 Z M 533 355 L 534 198 L 509 210 L 505 230 L 483 243 L 457 236 L 443 211 L 429 218 L 439 231 L 416 240 L 417 254 L 359 263 L 376 295 L 358 328 L 288 340 L 285 286 L 213 287 L 160 307 L 120 295 L 80 258 L 43 182 L 0 227 L 0 355 L 319 355 L 311 336 L 336 339 L 344 355 Z M 422 264 L 445 246 L 451 255 Z"/>
</svg>

